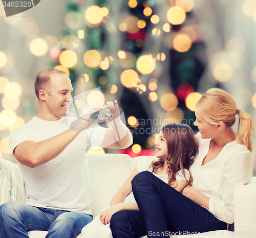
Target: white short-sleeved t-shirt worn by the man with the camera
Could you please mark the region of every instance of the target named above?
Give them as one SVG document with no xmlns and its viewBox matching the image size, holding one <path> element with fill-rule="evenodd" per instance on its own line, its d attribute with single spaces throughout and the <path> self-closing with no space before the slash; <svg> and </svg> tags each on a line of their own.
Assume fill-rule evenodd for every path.
<svg viewBox="0 0 256 238">
<path fill-rule="evenodd" d="M 13 151 L 24 141 L 40 142 L 58 135 L 70 128 L 71 121 L 67 117 L 61 117 L 57 121 L 44 121 L 35 116 L 30 122 L 11 132 L 11 149 Z M 104 135 L 105 129 L 97 125 L 82 131 L 62 153 L 45 164 L 30 168 L 17 162 L 26 183 L 26 204 L 92 214 L 86 148 L 90 144 L 100 146 Z"/>
</svg>

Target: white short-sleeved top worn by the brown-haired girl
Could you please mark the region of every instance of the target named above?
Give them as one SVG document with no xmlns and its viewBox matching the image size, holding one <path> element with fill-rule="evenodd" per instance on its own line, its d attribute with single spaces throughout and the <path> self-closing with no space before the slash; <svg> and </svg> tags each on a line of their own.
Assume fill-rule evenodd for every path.
<svg viewBox="0 0 256 238">
<path fill-rule="evenodd" d="M 137 157 L 138 158 L 138 157 Z M 152 172 L 152 168 L 150 168 L 152 161 L 158 160 L 155 156 L 139 156 L 140 161 L 137 164 L 137 169 L 139 172 L 142 171 L 150 171 Z M 187 169 L 184 169 L 185 174 L 182 174 L 181 170 L 176 173 L 176 180 L 186 180 L 189 181 L 190 173 Z M 164 183 L 168 184 L 168 174 L 158 175 L 153 172 L 155 176 L 160 178 Z M 186 178 L 185 178 L 186 177 Z M 128 196 L 125 197 L 124 203 L 136 203 L 133 192 L 131 192 Z"/>
</svg>

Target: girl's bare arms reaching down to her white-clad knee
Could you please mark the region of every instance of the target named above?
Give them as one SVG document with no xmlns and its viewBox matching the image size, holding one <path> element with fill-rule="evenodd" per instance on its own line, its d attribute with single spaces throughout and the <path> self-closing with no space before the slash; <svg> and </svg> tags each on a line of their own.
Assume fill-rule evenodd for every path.
<svg viewBox="0 0 256 238">
<path fill-rule="evenodd" d="M 137 203 L 123 203 L 125 197 L 132 192 L 132 180 L 138 173 L 139 170 L 136 167 L 124 182 L 122 187 L 113 196 L 113 199 L 110 203 L 110 208 L 100 213 L 99 219 L 103 224 L 110 223 L 112 215 L 120 210 L 139 210 Z"/>
</svg>

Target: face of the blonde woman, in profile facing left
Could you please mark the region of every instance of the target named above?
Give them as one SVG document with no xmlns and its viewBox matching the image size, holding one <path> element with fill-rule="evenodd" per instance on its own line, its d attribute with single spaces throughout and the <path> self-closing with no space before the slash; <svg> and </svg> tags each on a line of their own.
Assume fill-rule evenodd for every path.
<svg viewBox="0 0 256 238">
<path fill-rule="evenodd" d="M 216 125 L 211 125 L 208 122 L 204 120 L 204 118 L 197 113 L 197 110 L 195 111 L 196 114 L 196 121 L 194 123 L 195 126 L 198 127 L 201 133 L 201 138 L 214 138 L 216 133 Z"/>
</svg>

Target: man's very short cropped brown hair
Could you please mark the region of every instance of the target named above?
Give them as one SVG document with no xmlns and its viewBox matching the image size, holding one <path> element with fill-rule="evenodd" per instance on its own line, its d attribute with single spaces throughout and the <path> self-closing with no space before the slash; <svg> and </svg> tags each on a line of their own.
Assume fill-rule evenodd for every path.
<svg viewBox="0 0 256 238">
<path fill-rule="evenodd" d="M 57 70 L 57 69 L 46 69 L 42 72 L 40 72 L 35 79 L 35 94 L 39 100 L 39 91 L 41 89 L 46 90 L 46 92 L 50 94 L 50 86 L 51 86 L 51 76 L 54 73 L 61 73 L 64 72 Z M 65 74 L 65 73 L 64 73 Z"/>
</svg>

